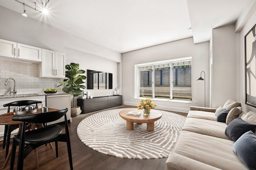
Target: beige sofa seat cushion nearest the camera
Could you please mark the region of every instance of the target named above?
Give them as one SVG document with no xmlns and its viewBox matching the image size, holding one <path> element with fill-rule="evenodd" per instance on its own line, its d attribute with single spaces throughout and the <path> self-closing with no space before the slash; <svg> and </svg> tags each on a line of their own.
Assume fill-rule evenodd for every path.
<svg viewBox="0 0 256 170">
<path fill-rule="evenodd" d="M 189 170 L 203 170 L 208 169 L 200 168 L 200 164 L 208 164 L 222 170 L 248 170 L 242 160 L 233 152 L 233 141 L 221 139 L 217 137 L 202 135 L 188 131 L 181 131 L 179 139 L 172 154 L 185 156 L 188 159 L 194 160 L 184 169 Z M 170 156 L 169 156 L 170 157 Z M 168 160 L 170 160 L 168 158 Z M 186 161 L 176 159 L 172 161 Z M 198 165 L 197 168 L 195 166 Z M 193 168 L 190 168 L 193 167 Z M 183 168 L 180 168 L 183 169 Z"/>
</svg>

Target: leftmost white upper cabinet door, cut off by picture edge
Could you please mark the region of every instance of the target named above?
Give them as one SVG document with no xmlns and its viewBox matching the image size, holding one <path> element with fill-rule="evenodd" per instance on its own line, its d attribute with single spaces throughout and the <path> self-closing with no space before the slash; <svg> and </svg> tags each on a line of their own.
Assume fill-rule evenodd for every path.
<svg viewBox="0 0 256 170">
<path fill-rule="evenodd" d="M 0 56 L 17 57 L 17 43 L 0 39 Z"/>
</svg>

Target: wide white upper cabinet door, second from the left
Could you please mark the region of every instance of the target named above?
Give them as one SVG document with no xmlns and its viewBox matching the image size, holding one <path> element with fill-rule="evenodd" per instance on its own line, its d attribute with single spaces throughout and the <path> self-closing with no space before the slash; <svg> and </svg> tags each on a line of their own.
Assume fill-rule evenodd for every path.
<svg viewBox="0 0 256 170">
<path fill-rule="evenodd" d="M 25 59 L 29 61 L 42 61 L 42 49 L 30 45 L 17 43 L 18 59 Z"/>
</svg>

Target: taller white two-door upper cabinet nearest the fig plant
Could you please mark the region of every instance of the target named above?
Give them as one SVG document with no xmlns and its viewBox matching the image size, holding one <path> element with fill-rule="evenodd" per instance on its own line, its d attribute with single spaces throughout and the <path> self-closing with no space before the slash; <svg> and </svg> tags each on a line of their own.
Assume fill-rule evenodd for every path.
<svg viewBox="0 0 256 170">
<path fill-rule="evenodd" d="M 65 78 L 65 54 L 42 49 L 39 72 L 40 77 Z"/>
</svg>

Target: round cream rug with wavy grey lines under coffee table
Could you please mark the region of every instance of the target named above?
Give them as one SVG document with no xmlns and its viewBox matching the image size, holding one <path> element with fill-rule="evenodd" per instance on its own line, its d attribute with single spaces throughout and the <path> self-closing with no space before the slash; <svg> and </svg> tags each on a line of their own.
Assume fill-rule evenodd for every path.
<svg viewBox="0 0 256 170">
<path fill-rule="evenodd" d="M 126 130 L 126 121 L 119 116 L 122 109 L 95 113 L 82 120 L 77 127 L 80 140 L 88 147 L 111 156 L 131 159 L 167 158 L 173 150 L 186 117 L 161 111 L 153 132 L 146 131 L 146 123 L 134 123 L 134 130 Z"/>
</svg>

